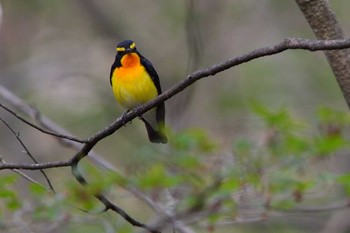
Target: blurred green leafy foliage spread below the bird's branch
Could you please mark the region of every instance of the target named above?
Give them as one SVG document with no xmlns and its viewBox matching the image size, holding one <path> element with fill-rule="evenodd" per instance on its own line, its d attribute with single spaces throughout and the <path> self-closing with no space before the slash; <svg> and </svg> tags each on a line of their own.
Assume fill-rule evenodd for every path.
<svg viewBox="0 0 350 233">
<path fill-rule="evenodd" d="M 350 126 L 350 114 L 320 108 L 315 116 L 317 127 L 313 128 L 283 107 L 270 110 L 254 102 L 251 109 L 264 125 L 263 141 L 237 138 L 232 152 L 225 155 L 218 142 L 204 130 L 169 132 L 170 145 L 163 152 L 166 158 L 153 157 L 142 171 L 122 175 L 84 162 L 80 169 L 89 180 L 86 187 L 72 181 L 65 185 L 64 192 L 53 194 L 37 184 L 28 185 L 32 201 L 27 214 L 34 223 L 64 219 L 69 223 L 67 229 L 74 229 L 72 232 L 93 232 L 107 225 L 114 231 L 132 232 L 125 222 L 108 223 L 111 213 L 102 218 L 92 214 L 103 209 L 93 195 L 113 194 L 113 201 L 123 206 L 132 198 L 123 197 L 122 190 L 131 185 L 165 205 L 170 195 L 177 203 L 176 211 L 208 211 L 206 222 L 216 229 L 223 219 L 234 222 L 236 217 L 243 217 L 247 208 L 241 207 L 244 203 L 253 208 L 258 217 L 270 209 L 284 211 L 311 203 L 322 206 L 332 200 L 333 195 L 338 199 L 349 196 L 348 173 L 311 168 L 348 149 L 344 131 Z M 0 198 L 5 201 L 3 210 L 25 210 L 28 197 L 18 197 L 13 187 L 16 180 L 14 175 L 0 180 Z M 327 191 L 335 188 L 337 193 Z M 246 200 L 242 203 L 243 197 Z M 141 215 L 144 214 L 150 213 L 145 210 Z M 91 225 L 78 230 L 75 225 L 83 219 Z"/>
</svg>

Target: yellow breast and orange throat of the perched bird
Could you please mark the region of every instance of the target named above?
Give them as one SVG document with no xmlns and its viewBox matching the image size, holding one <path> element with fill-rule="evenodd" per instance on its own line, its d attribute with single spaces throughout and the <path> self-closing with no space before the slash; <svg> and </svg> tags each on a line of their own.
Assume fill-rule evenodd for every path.
<svg viewBox="0 0 350 233">
<path fill-rule="evenodd" d="M 115 98 L 124 108 L 132 109 L 157 97 L 157 88 L 137 54 L 124 55 L 121 64 L 112 74 L 112 87 Z"/>
</svg>

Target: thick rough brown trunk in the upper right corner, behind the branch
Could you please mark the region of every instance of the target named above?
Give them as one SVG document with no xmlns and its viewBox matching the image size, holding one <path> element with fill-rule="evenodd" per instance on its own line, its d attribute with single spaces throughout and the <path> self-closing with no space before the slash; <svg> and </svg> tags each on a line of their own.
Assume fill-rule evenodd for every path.
<svg viewBox="0 0 350 233">
<path fill-rule="evenodd" d="M 295 0 L 319 40 L 345 38 L 328 0 Z M 328 63 L 350 108 L 350 50 L 325 51 Z"/>
</svg>

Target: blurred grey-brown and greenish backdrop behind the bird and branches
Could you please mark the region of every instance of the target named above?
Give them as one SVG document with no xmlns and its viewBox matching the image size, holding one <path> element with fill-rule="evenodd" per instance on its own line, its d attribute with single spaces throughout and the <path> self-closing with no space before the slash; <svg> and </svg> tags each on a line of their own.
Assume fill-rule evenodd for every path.
<svg viewBox="0 0 350 233">
<path fill-rule="evenodd" d="M 349 35 L 350 1 L 330 3 Z M 286 37 L 314 38 L 294 1 L 0 0 L 0 4 L 0 84 L 83 139 L 123 113 L 109 83 L 115 47 L 122 40 L 136 42 L 157 70 L 162 89 L 167 90 L 197 69 Z M 255 101 L 271 109 L 285 107 L 311 124 L 320 106 L 348 110 L 323 53 L 299 50 L 200 80 L 166 102 L 166 122 L 174 133 L 204 130 L 224 153 L 239 137 L 261 139 L 261 122 L 251 113 Z M 52 137 L 3 110 L 0 114 L 20 132 L 40 162 L 74 155 L 74 150 L 62 147 Z M 6 127 L 0 126 L 0 139 L 0 155 L 6 161 L 30 161 Z M 164 150 L 150 145 L 143 123 L 137 119 L 95 147 L 126 174 L 135 172 L 149 156 L 166 159 Z M 346 160 L 332 159 L 331 166 L 347 169 L 339 166 L 339 161 Z M 58 189 L 73 180 L 67 168 L 47 172 Z M 40 173 L 28 174 L 44 182 Z M 25 181 L 18 186 L 22 183 Z M 22 189 L 25 196 L 26 189 Z M 274 218 L 259 227 L 266 232 L 318 232 L 330 216 Z M 254 226 L 221 230 L 254 232 Z M 77 228 L 62 232 L 80 232 Z"/>
</svg>

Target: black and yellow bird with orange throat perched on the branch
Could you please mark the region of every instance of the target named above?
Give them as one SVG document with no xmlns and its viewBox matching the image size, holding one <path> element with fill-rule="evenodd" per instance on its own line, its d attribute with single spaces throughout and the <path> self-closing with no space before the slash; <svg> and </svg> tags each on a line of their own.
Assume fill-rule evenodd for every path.
<svg viewBox="0 0 350 233">
<path fill-rule="evenodd" d="M 117 45 L 111 68 L 110 83 L 117 101 L 127 110 L 145 104 L 162 93 L 159 77 L 152 63 L 141 55 L 132 40 Z M 164 103 L 143 114 L 148 138 L 154 143 L 167 143 L 164 134 Z"/>
</svg>

